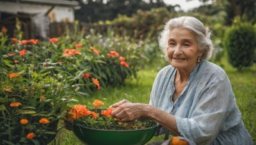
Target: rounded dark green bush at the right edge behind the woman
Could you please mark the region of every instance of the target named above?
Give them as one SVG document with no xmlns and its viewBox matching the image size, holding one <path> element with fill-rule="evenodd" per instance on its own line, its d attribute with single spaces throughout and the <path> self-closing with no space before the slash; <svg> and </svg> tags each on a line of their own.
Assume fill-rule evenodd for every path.
<svg viewBox="0 0 256 145">
<path fill-rule="evenodd" d="M 225 34 L 228 62 L 241 70 L 250 67 L 255 58 L 256 32 L 252 24 L 237 22 Z"/>
</svg>

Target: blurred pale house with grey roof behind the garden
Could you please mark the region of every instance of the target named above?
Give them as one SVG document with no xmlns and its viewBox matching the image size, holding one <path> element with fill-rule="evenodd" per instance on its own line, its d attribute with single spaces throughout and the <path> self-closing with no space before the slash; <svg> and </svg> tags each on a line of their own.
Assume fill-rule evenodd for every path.
<svg viewBox="0 0 256 145">
<path fill-rule="evenodd" d="M 0 0 L 0 26 L 12 37 L 19 20 L 24 39 L 48 39 L 50 24 L 74 22 L 74 10 L 79 8 L 76 0 Z"/>
</svg>

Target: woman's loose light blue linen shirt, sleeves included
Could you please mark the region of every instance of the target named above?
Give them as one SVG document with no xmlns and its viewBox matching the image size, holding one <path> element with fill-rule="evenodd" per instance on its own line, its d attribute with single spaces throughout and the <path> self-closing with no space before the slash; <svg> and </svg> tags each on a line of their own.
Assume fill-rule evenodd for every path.
<svg viewBox="0 0 256 145">
<path fill-rule="evenodd" d="M 221 67 L 208 61 L 197 64 L 180 97 L 172 102 L 176 71 L 169 65 L 158 72 L 149 104 L 175 116 L 181 137 L 189 144 L 253 144 Z"/>
</svg>

